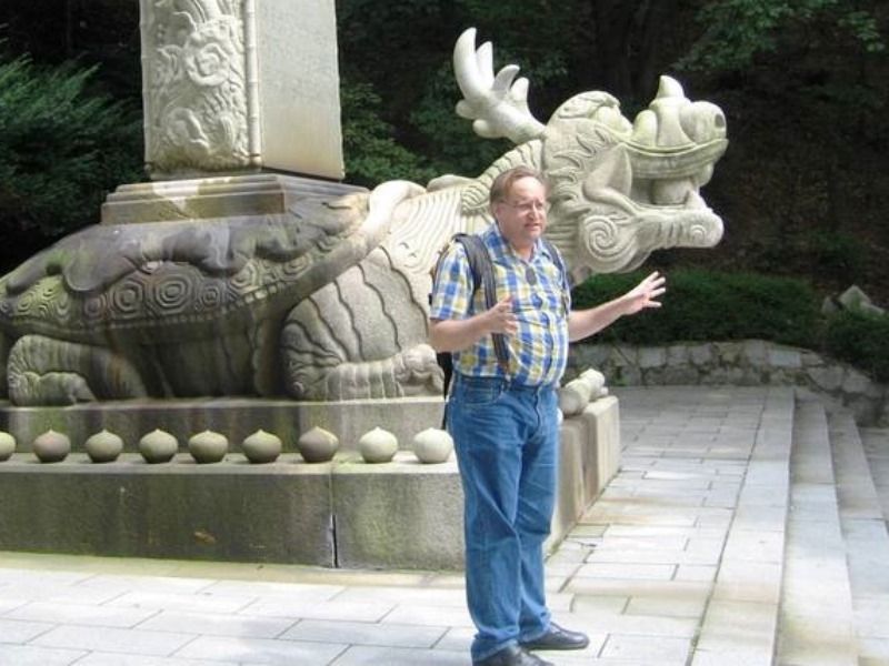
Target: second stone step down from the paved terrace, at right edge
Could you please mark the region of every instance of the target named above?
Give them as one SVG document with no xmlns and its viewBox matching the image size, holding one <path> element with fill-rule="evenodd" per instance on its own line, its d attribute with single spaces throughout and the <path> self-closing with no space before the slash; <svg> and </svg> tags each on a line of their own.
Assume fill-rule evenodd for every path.
<svg viewBox="0 0 889 666">
<path fill-rule="evenodd" d="M 860 664 L 889 664 L 889 534 L 855 418 L 828 418 Z"/>
</svg>

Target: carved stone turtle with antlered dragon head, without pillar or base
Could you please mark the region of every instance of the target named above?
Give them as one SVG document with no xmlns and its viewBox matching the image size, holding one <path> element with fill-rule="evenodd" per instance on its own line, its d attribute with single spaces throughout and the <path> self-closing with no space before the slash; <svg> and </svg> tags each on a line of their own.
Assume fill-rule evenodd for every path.
<svg viewBox="0 0 889 666">
<path fill-rule="evenodd" d="M 718 107 L 663 77 L 635 122 L 596 91 L 542 124 L 518 68 L 495 75 L 471 29 L 455 71 L 457 112 L 516 143 L 476 179 L 306 196 L 283 214 L 90 226 L 2 278 L 10 401 L 436 394 L 430 270 L 453 233 L 490 224 L 490 184 L 517 164 L 549 180 L 547 235 L 576 281 L 720 240 L 700 196 L 728 144 Z"/>
</svg>

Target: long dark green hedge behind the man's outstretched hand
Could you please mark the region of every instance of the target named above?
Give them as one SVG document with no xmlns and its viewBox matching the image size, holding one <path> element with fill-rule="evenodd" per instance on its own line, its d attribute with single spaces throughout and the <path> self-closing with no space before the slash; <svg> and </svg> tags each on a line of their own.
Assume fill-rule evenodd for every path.
<svg viewBox="0 0 889 666">
<path fill-rule="evenodd" d="M 575 307 L 591 307 L 631 289 L 646 273 L 598 275 L 573 290 Z M 819 340 L 819 302 L 801 280 L 752 273 L 675 270 L 663 306 L 619 320 L 599 342 L 763 339 L 812 347 Z"/>
</svg>

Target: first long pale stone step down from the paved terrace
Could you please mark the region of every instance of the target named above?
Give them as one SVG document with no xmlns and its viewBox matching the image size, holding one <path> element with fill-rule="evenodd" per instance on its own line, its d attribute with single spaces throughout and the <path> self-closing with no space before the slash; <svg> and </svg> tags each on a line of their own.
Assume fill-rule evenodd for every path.
<svg viewBox="0 0 889 666">
<path fill-rule="evenodd" d="M 857 665 L 846 544 L 827 414 L 820 402 L 797 403 L 790 466 L 776 664 Z"/>
</svg>

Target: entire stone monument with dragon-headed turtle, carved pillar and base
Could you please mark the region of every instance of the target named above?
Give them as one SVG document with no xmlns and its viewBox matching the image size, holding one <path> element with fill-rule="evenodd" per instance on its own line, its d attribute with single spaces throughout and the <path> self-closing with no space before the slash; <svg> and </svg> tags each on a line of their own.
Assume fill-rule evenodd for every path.
<svg viewBox="0 0 889 666">
<path fill-rule="evenodd" d="M 700 188 L 725 117 L 663 77 L 633 122 L 598 91 L 540 122 L 518 68 L 495 73 L 468 30 L 457 112 L 515 148 L 476 178 L 368 191 L 336 182 L 333 0 L 140 2 L 152 182 L 121 185 L 101 224 L 0 279 L 0 435 L 18 440 L 0 463 L 0 548 L 461 566 L 456 463 L 408 451 L 440 422 L 438 251 L 490 224 L 490 184 L 518 164 L 551 183 L 548 236 L 576 281 L 711 246 L 722 222 Z M 566 389 L 551 543 L 619 460 L 617 400 L 591 376 Z M 391 462 L 358 454 L 374 426 L 398 443 Z M 297 453 L 313 427 L 340 443 L 333 460 Z M 51 431 L 72 453 L 36 464 Z M 84 442 L 100 431 L 123 452 L 96 464 Z M 173 455 L 147 464 L 138 443 L 158 431 Z M 182 443 L 208 431 L 231 447 L 197 465 Z M 260 435 L 270 454 L 251 453 Z"/>
</svg>

